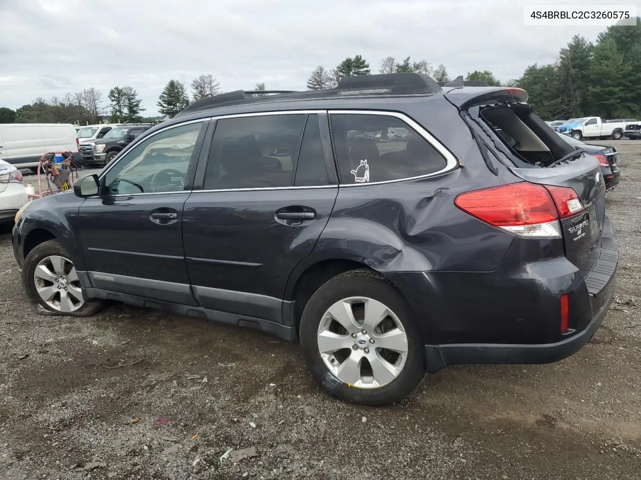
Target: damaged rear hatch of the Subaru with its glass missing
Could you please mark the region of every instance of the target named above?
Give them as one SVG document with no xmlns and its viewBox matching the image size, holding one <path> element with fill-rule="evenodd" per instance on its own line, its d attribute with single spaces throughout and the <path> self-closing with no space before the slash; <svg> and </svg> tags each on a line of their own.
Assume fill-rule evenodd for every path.
<svg viewBox="0 0 641 480">
<path fill-rule="evenodd" d="M 458 88 L 445 97 L 517 177 L 550 192 L 559 210 L 565 256 L 581 268 L 606 221 L 599 160 L 559 138 L 526 104 L 524 90 Z"/>
</svg>

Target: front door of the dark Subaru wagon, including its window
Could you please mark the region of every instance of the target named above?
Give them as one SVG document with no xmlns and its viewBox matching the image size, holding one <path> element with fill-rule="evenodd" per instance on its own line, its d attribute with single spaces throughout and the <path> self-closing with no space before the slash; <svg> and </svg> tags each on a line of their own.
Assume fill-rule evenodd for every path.
<svg viewBox="0 0 641 480">
<path fill-rule="evenodd" d="M 194 305 L 183 255 L 183 205 L 207 122 L 155 132 L 101 175 L 76 223 L 96 288 Z"/>
</svg>

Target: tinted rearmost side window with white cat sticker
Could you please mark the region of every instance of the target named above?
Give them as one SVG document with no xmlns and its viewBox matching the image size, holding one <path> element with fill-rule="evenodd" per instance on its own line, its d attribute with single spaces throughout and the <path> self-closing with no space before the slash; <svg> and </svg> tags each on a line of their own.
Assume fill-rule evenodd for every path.
<svg viewBox="0 0 641 480">
<path fill-rule="evenodd" d="M 342 184 L 367 184 L 439 172 L 445 158 L 400 118 L 333 114 L 331 132 Z"/>
</svg>

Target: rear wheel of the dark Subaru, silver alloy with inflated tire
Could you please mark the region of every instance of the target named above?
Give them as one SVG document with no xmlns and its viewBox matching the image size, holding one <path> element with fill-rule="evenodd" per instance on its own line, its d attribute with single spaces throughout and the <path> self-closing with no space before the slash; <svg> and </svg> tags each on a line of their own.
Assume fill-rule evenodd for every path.
<svg viewBox="0 0 641 480">
<path fill-rule="evenodd" d="M 412 310 L 376 272 L 354 270 L 328 280 L 305 306 L 299 336 L 312 376 L 345 401 L 388 405 L 425 377 Z"/>
</svg>

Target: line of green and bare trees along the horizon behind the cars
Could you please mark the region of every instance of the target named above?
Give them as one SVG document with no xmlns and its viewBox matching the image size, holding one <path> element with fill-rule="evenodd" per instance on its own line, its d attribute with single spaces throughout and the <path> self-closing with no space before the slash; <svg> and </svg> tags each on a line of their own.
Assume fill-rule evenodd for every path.
<svg viewBox="0 0 641 480">
<path fill-rule="evenodd" d="M 414 61 L 388 56 L 379 65 L 378 73 L 419 72 L 438 82 L 451 78 L 440 64 L 433 68 L 426 60 Z M 314 68 L 306 82 L 308 90 L 333 88 L 342 77 L 369 75 L 370 64 L 361 55 L 345 58 L 333 68 Z M 560 49 L 554 63 L 529 65 L 522 76 L 501 82 L 490 70 L 468 72 L 467 80 L 485 81 L 491 86 L 518 86 L 529 93 L 529 104 L 542 118 L 549 120 L 599 115 L 604 118 L 641 117 L 641 17 L 637 26 L 611 26 L 601 32 L 594 44 L 575 35 Z M 254 95 L 266 90 L 257 83 Z M 203 74 L 190 83 L 171 79 L 158 97 L 158 111 L 170 117 L 190 102 L 224 93 L 211 74 Z M 74 123 L 91 124 L 109 115 L 112 122 L 145 120 L 142 101 L 131 86 L 115 86 L 108 93 L 109 103 L 96 88 L 67 93 L 62 98 L 38 98 L 32 104 L 13 111 L 0 108 L 0 123 Z"/>
</svg>

